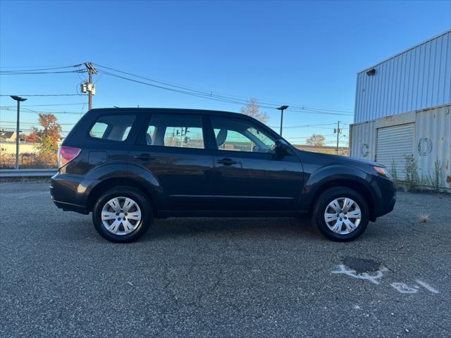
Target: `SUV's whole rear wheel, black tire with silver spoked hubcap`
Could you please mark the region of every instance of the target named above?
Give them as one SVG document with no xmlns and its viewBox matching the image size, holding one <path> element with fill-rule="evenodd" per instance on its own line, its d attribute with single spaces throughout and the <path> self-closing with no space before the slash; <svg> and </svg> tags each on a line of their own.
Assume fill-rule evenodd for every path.
<svg viewBox="0 0 451 338">
<path fill-rule="evenodd" d="M 97 232 L 115 243 L 136 241 L 147 232 L 152 219 L 152 205 L 134 187 L 122 186 L 107 190 L 97 199 L 92 209 L 92 223 Z"/>
</svg>

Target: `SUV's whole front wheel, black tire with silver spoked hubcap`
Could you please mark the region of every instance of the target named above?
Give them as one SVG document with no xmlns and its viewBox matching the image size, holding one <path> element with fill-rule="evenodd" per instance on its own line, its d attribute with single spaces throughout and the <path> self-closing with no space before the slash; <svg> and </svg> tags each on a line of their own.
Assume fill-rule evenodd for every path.
<svg viewBox="0 0 451 338">
<path fill-rule="evenodd" d="M 347 200 L 345 201 L 345 199 Z M 334 201 L 338 201 L 338 208 L 334 208 L 337 206 Z M 350 201 L 354 203 L 351 204 Z M 344 204 L 347 204 L 345 208 L 343 208 Z M 347 208 L 349 208 L 348 211 L 345 211 Z M 360 218 L 347 217 L 359 214 Z M 326 217 L 328 217 L 328 222 L 326 222 Z M 361 194 L 353 189 L 331 188 L 323 192 L 316 200 L 311 220 L 328 239 L 335 242 L 350 242 L 363 234 L 369 223 L 368 203 Z"/>
</svg>

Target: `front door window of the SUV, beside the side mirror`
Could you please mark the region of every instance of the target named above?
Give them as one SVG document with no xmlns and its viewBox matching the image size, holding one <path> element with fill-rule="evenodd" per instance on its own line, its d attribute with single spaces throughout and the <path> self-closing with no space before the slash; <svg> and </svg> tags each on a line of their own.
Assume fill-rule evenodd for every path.
<svg viewBox="0 0 451 338">
<path fill-rule="evenodd" d="M 211 125 L 219 150 L 271 154 L 274 152 L 275 140 L 253 123 L 212 116 Z"/>
</svg>

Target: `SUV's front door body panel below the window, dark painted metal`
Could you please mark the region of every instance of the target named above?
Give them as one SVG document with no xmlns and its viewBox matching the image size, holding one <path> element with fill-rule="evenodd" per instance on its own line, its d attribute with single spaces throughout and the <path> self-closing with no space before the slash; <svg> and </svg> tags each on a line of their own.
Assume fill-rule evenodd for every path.
<svg viewBox="0 0 451 338">
<path fill-rule="evenodd" d="M 220 210 L 295 210 L 302 191 L 296 156 L 215 151 L 214 206 Z M 235 163 L 223 164 L 228 159 Z"/>
</svg>

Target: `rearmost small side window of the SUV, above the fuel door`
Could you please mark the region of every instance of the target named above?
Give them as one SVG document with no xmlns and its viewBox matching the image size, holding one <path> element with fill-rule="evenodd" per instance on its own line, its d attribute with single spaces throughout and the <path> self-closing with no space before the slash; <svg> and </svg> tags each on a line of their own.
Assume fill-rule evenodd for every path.
<svg viewBox="0 0 451 338">
<path fill-rule="evenodd" d="M 97 119 L 89 131 L 95 139 L 108 139 L 110 141 L 125 141 L 136 115 L 106 115 Z"/>
</svg>

